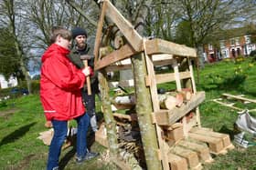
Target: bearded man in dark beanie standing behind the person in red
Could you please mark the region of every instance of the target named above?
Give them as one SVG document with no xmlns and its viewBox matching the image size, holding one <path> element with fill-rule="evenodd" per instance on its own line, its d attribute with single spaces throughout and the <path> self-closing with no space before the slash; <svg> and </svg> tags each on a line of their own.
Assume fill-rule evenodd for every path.
<svg viewBox="0 0 256 170">
<path fill-rule="evenodd" d="M 85 29 L 75 27 L 72 29 L 72 37 L 74 47 L 69 54 L 69 59 L 78 68 L 83 68 L 85 65 L 80 60 L 80 55 L 90 55 L 91 59 L 88 60 L 88 65 L 93 69 L 94 57 L 92 55 L 92 48 L 86 43 L 87 33 Z M 90 124 L 91 129 L 95 133 L 98 130 L 96 114 L 95 114 L 95 95 L 99 93 L 97 74 L 91 76 L 91 95 L 88 95 L 87 85 L 84 85 L 82 89 L 83 103 L 86 107 L 86 112 L 91 117 Z"/>
</svg>

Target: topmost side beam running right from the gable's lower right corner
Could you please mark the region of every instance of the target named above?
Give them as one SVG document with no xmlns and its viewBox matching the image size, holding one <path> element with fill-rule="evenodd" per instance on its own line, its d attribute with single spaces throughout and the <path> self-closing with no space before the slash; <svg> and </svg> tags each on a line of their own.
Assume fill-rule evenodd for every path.
<svg viewBox="0 0 256 170">
<path fill-rule="evenodd" d="M 178 45 L 162 39 L 152 39 L 145 42 L 145 48 L 148 55 L 154 54 L 170 54 L 179 56 L 197 57 L 195 48 L 186 45 Z"/>
</svg>

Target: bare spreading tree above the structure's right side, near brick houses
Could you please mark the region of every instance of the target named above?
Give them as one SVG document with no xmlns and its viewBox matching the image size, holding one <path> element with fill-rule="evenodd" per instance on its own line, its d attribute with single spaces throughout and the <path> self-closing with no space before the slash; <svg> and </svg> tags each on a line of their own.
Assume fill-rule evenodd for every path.
<svg viewBox="0 0 256 170">
<path fill-rule="evenodd" d="M 221 1 L 212 1 L 212 0 L 171 0 L 168 2 L 158 2 L 155 4 L 155 9 L 157 6 L 161 6 L 161 11 L 168 11 L 172 14 L 170 17 L 173 18 L 172 26 L 168 29 L 172 29 L 174 41 L 176 43 L 181 43 L 195 47 L 200 51 L 200 47 L 207 43 L 210 40 L 210 37 L 215 37 L 218 35 L 221 28 L 228 28 L 230 25 L 233 25 L 235 20 L 238 17 L 248 17 L 245 15 L 249 10 L 252 11 L 251 1 L 243 0 L 221 0 Z M 159 7 L 158 7 L 159 8 Z M 161 14 L 161 12 L 159 12 Z M 157 14 L 157 13 L 156 13 Z M 251 13 L 254 14 L 254 13 Z M 165 13 L 161 14 L 163 17 Z M 157 17 L 159 15 L 153 15 L 151 17 L 157 18 L 153 20 L 156 23 L 159 23 L 157 26 L 165 27 L 167 25 L 166 19 L 162 17 Z M 174 17 L 175 16 L 175 17 Z M 156 30 L 155 28 L 153 31 Z M 161 35 L 161 34 L 159 34 Z M 165 37 L 165 39 L 172 39 L 170 37 Z M 202 57 L 200 53 L 199 56 Z"/>
</svg>

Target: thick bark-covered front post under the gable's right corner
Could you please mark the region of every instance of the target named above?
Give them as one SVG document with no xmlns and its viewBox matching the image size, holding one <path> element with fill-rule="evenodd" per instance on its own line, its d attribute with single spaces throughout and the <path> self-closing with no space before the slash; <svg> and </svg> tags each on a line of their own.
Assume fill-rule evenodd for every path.
<svg viewBox="0 0 256 170">
<path fill-rule="evenodd" d="M 146 66 L 144 54 L 132 57 L 133 77 L 136 95 L 136 113 L 144 144 L 145 162 L 148 170 L 162 169 L 161 162 L 157 156 L 158 144 L 155 125 L 151 120 L 153 105 L 149 88 L 145 85 Z"/>
</svg>

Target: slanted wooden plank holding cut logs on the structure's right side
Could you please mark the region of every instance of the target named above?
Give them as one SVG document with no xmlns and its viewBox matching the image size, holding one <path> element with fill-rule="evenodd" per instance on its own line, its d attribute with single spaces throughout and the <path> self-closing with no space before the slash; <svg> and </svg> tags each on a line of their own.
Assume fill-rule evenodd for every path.
<svg viewBox="0 0 256 170">
<path fill-rule="evenodd" d="M 197 92 L 191 97 L 191 100 L 186 105 L 181 105 L 179 108 L 172 110 L 159 110 L 155 112 L 155 120 L 158 125 L 172 125 L 178 119 L 186 115 L 189 111 L 194 109 L 197 105 L 205 100 L 205 92 Z"/>
</svg>

